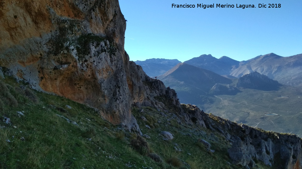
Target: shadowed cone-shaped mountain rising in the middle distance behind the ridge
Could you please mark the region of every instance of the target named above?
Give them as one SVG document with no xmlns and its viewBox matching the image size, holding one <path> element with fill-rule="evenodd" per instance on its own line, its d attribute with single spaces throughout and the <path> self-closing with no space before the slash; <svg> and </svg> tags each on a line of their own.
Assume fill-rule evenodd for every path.
<svg viewBox="0 0 302 169">
<path fill-rule="evenodd" d="M 158 77 L 166 86 L 177 91 L 181 103 L 202 104 L 211 102 L 208 92 L 217 83 L 230 84 L 232 81 L 210 70 L 187 63 L 179 63 Z"/>
</svg>

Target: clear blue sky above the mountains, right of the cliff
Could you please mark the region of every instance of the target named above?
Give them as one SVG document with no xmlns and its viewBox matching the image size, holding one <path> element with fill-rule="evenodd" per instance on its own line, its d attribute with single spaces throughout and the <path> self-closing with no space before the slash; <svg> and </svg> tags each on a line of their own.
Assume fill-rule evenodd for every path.
<svg viewBox="0 0 302 169">
<path fill-rule="evenodd" d="M 268 53 L 302 53 L 302 0 L 119 0 L 127 20 L 130 60 L 178 59 L 202 54 L 242 61 Z M 268 8 L 269 3 L 281 8 Z M 197 4 L 214 8 L 197 8 Z M 216 8 L 216 4 L 234 8 Z M 195 8 L 172 8 L 172 4 Z M 255 8 L 236 8 L 254 5 Z M 266 4 L 267 8 L 258 8 Z"/>
</svg>

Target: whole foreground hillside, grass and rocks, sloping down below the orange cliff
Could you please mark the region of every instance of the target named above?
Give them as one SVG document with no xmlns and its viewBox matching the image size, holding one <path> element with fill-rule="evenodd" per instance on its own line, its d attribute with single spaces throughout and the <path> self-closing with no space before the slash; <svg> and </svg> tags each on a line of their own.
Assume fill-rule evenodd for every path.
<svg viewBox="0 0 302 169">
<path fill-rule="evenodd" d="M 157 98 L 163 109 L 133 105 L 143 132 L 137 136 L 96 109 L 9 76 L 0 86 L 2 168 L 301 167 L 295 135 L 236 124 L 192 105 L 172 106 L 168 95 Z"/>
</svg>

